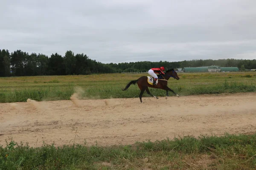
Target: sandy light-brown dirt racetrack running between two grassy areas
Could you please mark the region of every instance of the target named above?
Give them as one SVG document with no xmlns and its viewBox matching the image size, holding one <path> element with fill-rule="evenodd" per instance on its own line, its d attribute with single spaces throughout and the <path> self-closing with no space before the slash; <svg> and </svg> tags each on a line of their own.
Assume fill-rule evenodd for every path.
<svg viewBox="0 0 256 170">
<path fill-rule="evenodd" d="M 256 93 L 1 103 L 0 145 L 133 144 L 175 136 L 256 132 Z"/>
</svg>

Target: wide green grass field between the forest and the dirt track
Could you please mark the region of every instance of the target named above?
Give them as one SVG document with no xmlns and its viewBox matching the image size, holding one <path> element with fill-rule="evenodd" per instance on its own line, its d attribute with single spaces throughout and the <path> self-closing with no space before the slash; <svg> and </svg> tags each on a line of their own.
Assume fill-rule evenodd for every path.
<svg viewBox="0 0 256 170">
<path fill-rule="evenodd" d="M 0 102 L 26 102 L 69 100 L 79 88 L 81 98 L 133 98 L 140 90 L 131 85 L 127 91 L 121 89 L 131 80 L 147 74 L 99 74 L 87 76 L 38 76 L 0 78 Z M 169 79 L 168 86 L 180 96 L 196 94 L 220 94 L 256 91 L 256 72 L 239 73 L 194 73 L 179 74 L 180 80 Z M 166 92 L 150 88 L 155 96 Z M 171 95 L 171 93 L 169 93 Z M 144 96 L 148 96 L 146 93 Z"/>
</svg>

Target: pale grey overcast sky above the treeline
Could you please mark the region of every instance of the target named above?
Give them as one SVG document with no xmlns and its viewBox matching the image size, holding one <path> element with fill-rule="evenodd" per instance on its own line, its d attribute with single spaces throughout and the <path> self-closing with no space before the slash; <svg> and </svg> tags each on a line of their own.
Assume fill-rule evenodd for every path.
<svg viewBox="0 0 256 170">
<path fill-rule="evenodd" d="M 99 62 L 256 59 L 256 0 L 1 0 L 0 49 Z"/>
</svg>

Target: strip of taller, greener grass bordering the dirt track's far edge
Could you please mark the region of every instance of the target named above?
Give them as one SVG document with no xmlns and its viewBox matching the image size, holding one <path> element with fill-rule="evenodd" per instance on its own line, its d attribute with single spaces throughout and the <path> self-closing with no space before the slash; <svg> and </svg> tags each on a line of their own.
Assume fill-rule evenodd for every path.
<svg viewBox="0 0 256 170">
<path fill-rule="evenodd" d="M 134 98 L 138 97 L 140 90 L 137 85 L 131 85 L 127 91 L 121 90 L 122 86 L 105 85 L 104 88 L 87 88 L 80 93 L 81 99 L 108 99 L 108 98 Z M 253 83 L 243 82 L 223 82 L 211 86 L 192 86 L 184 87 L 183 85 L 172 88 L 180 96 L 197 95 L 197 94 L 221 94 L 221 93 L 240 93 L 255 92 L 256 85 Z M 150 88 L 155 96 L 166 96 L 166 91 Z M 38 87 L 38 89 L 24 88 L 14 91 L 0 91 L 0 102 L 26 102 L 33 99 L 37 101 L 52 100 L 69 100 L 70 96 L 76 92 L 76 86 L 68 85 L 61 89 L 58 87 Z M 173 95 L 169 92 L 169 95 Z M 149 96 L 146 93 L 143 96 Z"/>
</svg>

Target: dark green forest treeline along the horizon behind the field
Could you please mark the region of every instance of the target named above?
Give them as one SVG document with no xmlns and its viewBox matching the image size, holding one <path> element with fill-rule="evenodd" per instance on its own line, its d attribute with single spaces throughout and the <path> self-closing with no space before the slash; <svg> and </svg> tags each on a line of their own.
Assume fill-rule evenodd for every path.
<svg viewBox="0 0 256 170">
<path fill-rule="evenodd" d="M 180 62 L 122 62 L 104 64 L 90 59 L 86 54 L 74 54 L 67 51 L 64 56 L 52 54 L 28 54 L 17 50 L 9 52 L 0 49 L 0 77 L 38 76 L 38 75 L 87 75 L 98 73 L 146 72 L 152 67 L 169 68 L 200 67 L 218 65 L 221 67 L 238 67 L 239 70 L 256 68 L 256 59 L 199 59 Z"/>
</svg>

